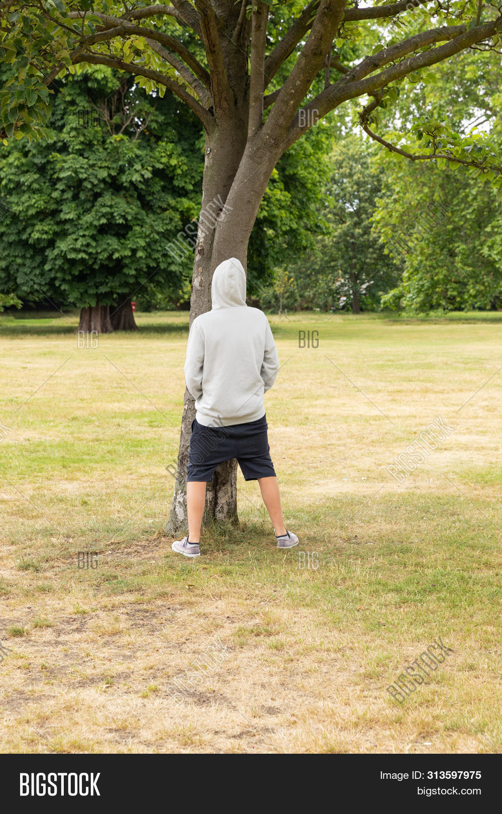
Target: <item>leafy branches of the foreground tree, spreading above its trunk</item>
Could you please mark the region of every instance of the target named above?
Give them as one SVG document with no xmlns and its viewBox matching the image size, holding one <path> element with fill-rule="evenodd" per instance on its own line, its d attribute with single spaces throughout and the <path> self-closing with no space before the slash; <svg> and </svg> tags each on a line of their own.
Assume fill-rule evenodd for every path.
<svg viewBox="0 0 502 814">
<path fill-rule="evenodd" d="M 0 94 L 5 139 L 43 133 L 56 77 L 98 63 L 133 74 L 146 90 L 171 91 L 207 131 L 219 112 L 244 102 L 248 134 L 277 135 L 284 151 L 320 117 L 364 95 L 373 100 L 360 124 L 380 138 L 371 127 L 374 112 L 395 104 L 404 77 L 434 81 L 430 68 L 461 51 L 497 53 L 502 20 L 497 0 L 371 7 L 355 0 L 176 0 L 172 6 L 7 0 L 0 3 L 0 26 L 0 56 L 16 68 Z M 234 80 L 237 72 L 248 74 L 250 41 L 246 99 L 239 100 Z M 491 145 L 478 144 L 473 155 L 469 142 L 434 120 L 417 121 L 413 133 L 426 147 L 421 160 L 438 155 L 478 164 L 502 183 Z"/>
</svg>

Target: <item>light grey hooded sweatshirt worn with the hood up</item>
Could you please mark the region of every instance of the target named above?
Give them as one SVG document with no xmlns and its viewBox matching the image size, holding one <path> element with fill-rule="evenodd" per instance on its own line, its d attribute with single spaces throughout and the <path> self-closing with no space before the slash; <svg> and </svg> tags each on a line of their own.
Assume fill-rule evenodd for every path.
<svg viewBox="0 0 502 814">
<path fill-rule="evenodd" d="M 217 266 L 211 294 L 212 310 L 194 319 L 186 348 L 195 418 L 206 427 L 256 421 L 279 370 L 268 319 L 247 306 L 246 273 L 234 257 Z"/>
</svg>

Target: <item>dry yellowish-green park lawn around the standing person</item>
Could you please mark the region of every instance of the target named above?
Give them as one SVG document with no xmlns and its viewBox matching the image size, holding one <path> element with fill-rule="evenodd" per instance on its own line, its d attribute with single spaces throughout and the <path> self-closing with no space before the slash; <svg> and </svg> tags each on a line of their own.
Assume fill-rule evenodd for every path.
<svg viewBox="0 0 502 814">
<path fill-rule="evenodd" d="M 139 313 L 97 348 L 77 348 L 76 313 L 17 316 L 2 751 L 500 751 L 499 314 L 270 315 L 269 440 L 300 545 L 274 546 L 239 474 L 241 526 L 208 528 L 194 562 L 163 532 L 188 314 Z M 451 434 L 398 484 L 386 466 L 439 415 Z M 387 687 L 438 637 L 446 660 L 399 703 Z"/>
</svg>

